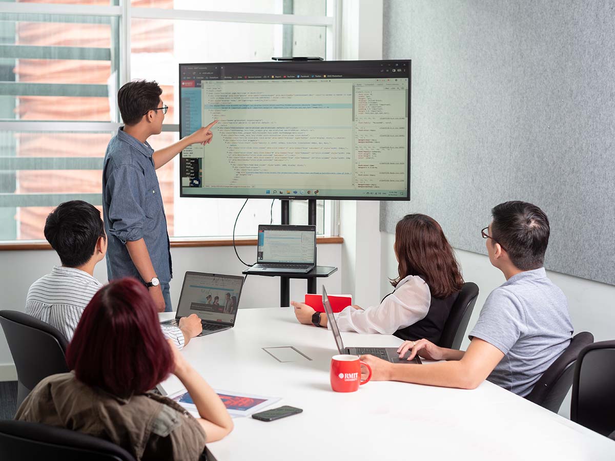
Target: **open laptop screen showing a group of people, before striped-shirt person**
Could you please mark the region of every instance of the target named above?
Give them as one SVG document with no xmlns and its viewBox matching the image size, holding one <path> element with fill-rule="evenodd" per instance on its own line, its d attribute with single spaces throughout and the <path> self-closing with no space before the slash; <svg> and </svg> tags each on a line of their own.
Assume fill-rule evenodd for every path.
<svg viewBox="0 0 615 461">
<path fill-rule="evenodd" d="M 234 323 L 244 277 L 186 272 L 178 317 L 196 313 L 201 320 Z"/>
</svg>

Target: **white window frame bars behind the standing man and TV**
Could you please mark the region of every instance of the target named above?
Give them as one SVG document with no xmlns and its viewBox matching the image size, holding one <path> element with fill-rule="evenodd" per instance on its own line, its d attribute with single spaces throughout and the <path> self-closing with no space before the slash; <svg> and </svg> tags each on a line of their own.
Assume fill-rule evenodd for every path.
<svg viewBox="0 0 615 461">
<path fill-rule="evenodd" d="M 118 0 L 116 0 L 117 2 Z M 232 23 L 258 23 L 290 26 L 321 26 L 326 30 L 325 58 L 339 59 L 341 56 L 341 0 L 325 0 L 325 16 L 308 16 L 295 14 L 269 14 L 252 12 L 228 12 L 212 10 L 185 10 L 132 7 L 130 0 L 119 0 L 118 5 L 92 6 L 79 4 L 50 4 L 50 3 L 18 3 L 0 2 L 0 14 L 37 14 L 37 15 L 71 15 L 89 17 L 114 17 L 119 20 L 119 85 L 130 81 L 130 24 L 133 18 L 162 19 L 162 20 L 191 20 L 202 22 L 232 22 Z M 116 109 L 116 119 L 120 120 Z M 86 122 L 86 121 L 33 121 L 0 119 L 2 132 L 89 132 L 112 133 L 122 124 L 118 122 Z M 162 125 L 163 132 L 179 133 L 178 124 Z M 66 192 L 70 194 L 70 192 Z M 12 195 L 12 194 L 0 194 Z M 339 243 L 339 202 L 328 200 L 330 211 L 325 212 L 325 236 L 320 236 L 322 243 Z M 329 232 L 327 232 L 329 230 Z M 172 246 L 212 246 L 226 245 L 228 240 L 220 236 L 202 237 L 172 237 Z M 244 238 L 243 245 L 250 245 L 253 239 Z M 325 241 L 326 240 L 326 241 Z M 200 242 L 200 244 L 199 244 Z M 6 240 L 0 242 L 0 250 L 44 250 L 47 248 L 44 240 Z"/>
</svg>

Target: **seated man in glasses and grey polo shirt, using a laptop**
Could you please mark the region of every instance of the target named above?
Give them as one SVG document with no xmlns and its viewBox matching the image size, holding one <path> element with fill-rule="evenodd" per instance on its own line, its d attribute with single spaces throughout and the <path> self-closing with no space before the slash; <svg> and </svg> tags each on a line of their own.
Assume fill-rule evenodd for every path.
<svg viewBox="0 0 615 461">
<path fill-rule="evenodd" d="M 568 302 L 542 267 L 549 219 L 536 205 L 518 201 L 501 203 L 491 213 L 493 221 L 482 235 L 491 264 L 506 282 L 487 297 L 467 351 L 444 349 L 426 339 L 405 341 L 400 357 L 411 350 L 408 360 L 418 353 L 446 362 L 421 367 L 366 355 L 362 360 L 371 366 L 371 379 L 469 389 L 487 379 L 526 396 L 568 347 L 573 334 Z"/>
</svg>

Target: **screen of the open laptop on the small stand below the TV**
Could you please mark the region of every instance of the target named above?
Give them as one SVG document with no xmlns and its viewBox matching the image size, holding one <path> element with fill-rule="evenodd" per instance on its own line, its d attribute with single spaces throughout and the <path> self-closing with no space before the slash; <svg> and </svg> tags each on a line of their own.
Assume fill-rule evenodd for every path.
<svg viewBox="0 0 615 461">
<path fill-rule="evenodd" d="M 256 262 L 314 264 L 315 226 L 258 226 Z"/>
</svg>

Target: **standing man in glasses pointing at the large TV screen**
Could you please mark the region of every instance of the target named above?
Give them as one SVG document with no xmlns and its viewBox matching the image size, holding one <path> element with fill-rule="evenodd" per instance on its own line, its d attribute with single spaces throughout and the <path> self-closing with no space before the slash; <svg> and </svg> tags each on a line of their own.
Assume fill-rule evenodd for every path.
<svg viewBox="0 0 615 461">
<path fill-rule="evenodd" d="M 175 144 L 154 152 L 147 140 L 162 131 L 168 107 L 156 82 L 133 81 L 117 93 L 124 127 L 117 130 L 103 164 L 103 220 L 109 237 L 109 280 L 135 277 L 148 287 L 160 312 L 172 311 L 169 282 L 173 276 L 167 218 L 156 170 L 190 144 L 212 141 L 200 128 Z"/>
</svg>

